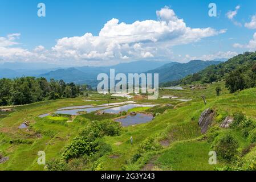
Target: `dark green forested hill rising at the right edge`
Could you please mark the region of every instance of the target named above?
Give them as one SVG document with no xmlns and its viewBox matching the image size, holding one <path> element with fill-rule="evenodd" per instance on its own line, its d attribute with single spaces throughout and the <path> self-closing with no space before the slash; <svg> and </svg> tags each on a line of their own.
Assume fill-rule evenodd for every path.
<svg viewBox="0 0 256 182">
<path fill-rule="evenodd" d="M 224 63 L 210 65 L 198 73 L 178 81 L 166 82 L 162 86 L 186 85 L 194 82 L 210 83 L 225 80 L 230 92 L 256 86 L 256 52 L 245 52 Z"/>
</svg>

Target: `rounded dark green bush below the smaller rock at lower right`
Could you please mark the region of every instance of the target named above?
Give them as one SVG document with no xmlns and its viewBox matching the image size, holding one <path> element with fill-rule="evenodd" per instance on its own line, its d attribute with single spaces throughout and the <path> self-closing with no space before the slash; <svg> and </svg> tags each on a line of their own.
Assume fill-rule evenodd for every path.
<svg viewBox="0 0 256 182">
<path fill-rule="evenodd" d="M 217 156 L 230 162 L 237 154 L 238 142 L 230 134 L 225 134 L 216 138 L 213 144 L 213 149 L 216 151 Z"/>
</svg>

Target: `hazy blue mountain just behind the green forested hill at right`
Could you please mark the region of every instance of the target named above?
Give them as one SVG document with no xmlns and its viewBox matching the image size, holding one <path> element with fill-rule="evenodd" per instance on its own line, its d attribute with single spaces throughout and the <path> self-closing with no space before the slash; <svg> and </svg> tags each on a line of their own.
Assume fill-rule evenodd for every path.
<svg viewBox="0 0 256 182">
<path fill-rule="evenodd" d="M 185 76 L 192 73 L 201 71 L 202 69 L 208 67 L 209 65 L 216 65 L 221 63 L 221 61 L 202 61 L 202 60 L 192 60 L 189 63 L 169 63 L 165 64 L 160 68 L 152 69 L 147 73 L 159 73 L 159 82 L 167 82 L 180 80 Z"/>
</svg>

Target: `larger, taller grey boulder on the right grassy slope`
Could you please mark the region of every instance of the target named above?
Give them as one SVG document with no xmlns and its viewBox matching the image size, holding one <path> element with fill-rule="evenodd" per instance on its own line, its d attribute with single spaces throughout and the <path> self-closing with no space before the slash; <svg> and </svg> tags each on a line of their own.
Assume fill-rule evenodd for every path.
<svg viewBox="0 0 256 182">
<path fill-rule="evenodd" d="M 205 109 L 201 113 L 201 117 L 199 118 L 198 124 L 201 127 L 201 133 L 205 134 L 208 130 L 208 126 L 212 123 L 214 117 L 214 111 L 210 108 Z"/>
</svg>

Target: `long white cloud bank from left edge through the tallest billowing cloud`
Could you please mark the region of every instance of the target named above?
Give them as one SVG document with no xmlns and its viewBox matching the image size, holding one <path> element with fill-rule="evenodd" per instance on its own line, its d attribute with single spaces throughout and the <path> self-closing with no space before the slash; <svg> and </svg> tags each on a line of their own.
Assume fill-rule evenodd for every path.
<svg viewBox="0 0 256 182">
<path fill-rule="evenodd" d="M 43 46 L 28 51 L 15 41 L 20 34 L 10 34 L 0 38 L 0 51 L 5 49 L 11 55 L 25 55 L 31 60 L 76 61 L 77 63 L 118 63 L 121 60 L 169 59 L 173 56 L 173 46 L 198 42 L 203 38 L 223 34 L 226 30 L 210 27 L 191 28 L 178 18 L 172 9 L 164 7 L 156 11 L 157 20 L 136 21 L 131 24 L 113 18 L 104 24 L 99 35 L 87 32 L 83 36 L 61 38 L 50 50 Z M 14 54 L 14 49 L 20 52 Z M 0 58 L 5 59 L 4 52 Z M 16 57 L 17 58 L 17 57 Z M 24 59 L 24 56 L 21 56 Z"/>
</svg>

